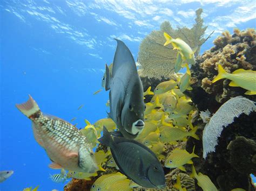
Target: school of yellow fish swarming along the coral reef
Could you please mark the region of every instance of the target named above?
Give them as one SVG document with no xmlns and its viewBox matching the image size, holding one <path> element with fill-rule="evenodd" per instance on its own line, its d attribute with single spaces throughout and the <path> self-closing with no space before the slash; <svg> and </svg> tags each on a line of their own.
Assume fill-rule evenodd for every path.
<svg viewBox="0 0 256 191">
<path fill-rule="evenodd" d="M 177 75 L 176 80 L 159 83 L 154 91 L 151 91 L 151 87 L 149 87 L 144 92 L 144 99 L 146 96 L 152 96 L 152 98 L 149 103 L 145 104 L 145 128 L 139 133 L 135 140 L 149 147 L 157 155 L 159 160 L 164 160 L 164 166 L 167 168 L 179 168 L 181 171 L 186 171 L 184 165 L 191 164 L 191 177 L 197 180 L 198 186 L 203 190 L 217 190 L 207 175 L 201 174 L 200 172 L 197 174 L 192 161 L 193 158 L 199 157 L 194 153 L 195 147 L 193 147 L 192 153 L 177 147 L 167 156 L 163 155 L 165 144 L 167 143 L 175 147 L 179 141 L 186 141 L 189 136 L 199 139 L 196 135 L 197 126 L 193 126 L 191 123 L 195 108 L 191 99 L 183 94 L 185 90 L 192 89 L 190 86 L 191 73 L 189 66 L 195 63 L 194 52 L 196 49 L 192 50 L 183 40 L 173 39 L 167 33 L 164 33 L 164 37 L 166 38 L 164 46 L 171 44 L 173 49 L 177 49 L 175 72 L 178 73 L 183 67 L 186 68 L 186 72 L 183 75 Z M 112 67 L 110 68 L 112 70 Z M 221 78 L 228 78 L 232 80 L 230 86 L 245 88 L 248 90 L 246 92 L 248 95 L 255 94 L 255 86 L 253 86 L 255 82 L 252 82 L 252 80 L 255 80 L 255 72 L 251 70 L 247 72 L 249 75 L 247 81 L 252 79 L 250 81 L 251 83 L 246 83 L 247 86 L 245 86 L 245 82 L 242 81 L 244 80 L 242 79 L 243 76 L 240 75 L 242 72 L 245 73 L 246 70 L 239 70 L 235 71 L 233 74 L 227 74 L 219 65 L 219 75 L 215 77 L 212 83 Z M 106 74 L 104 74 L 102 80 L 103 87 L 105 86 L 105 75 Z M 251 79 L 249 79 L 249 77 L 251 77 Z M 99 91 L 100 90 L 96 91 L 94 94 L 99 93 Z M 109 106 L 109 104 L 106 105 Z M 83 105 L 81 105 L 78 110 L 82 107 Z M 76 118 L 72 118 L 71 122 L 75 121 L 75 119 Z M 116 124 L 111 118 L 99 119 L 94 124 L 85 120 L 85 123 L 85 128 L 79 131 L 86 136 L 88 142 L 92 144 L 93 147 L 96 147 L 99 143 L 97 139 L 101 136 L 103 126 L 105 126 L 109 132 L 117 129 Z M 62 170 L 62 173 L 59 175 L 56 174 L 54 178 L 60 177 L 63 179 L 63 177 L 65 177 L 65 180 L 69 178 L 91 180 L 93 176 L 98 175 L 98 171 L 105 171 L 103 165 L 115 167 L 117 171 L 119 170 L 110 150 L 106 153 L 101 150 L 97 151 L 95 153 L 95 159 L 98 167 L 95 172 L 68 171 L 68 173 L 64 175 Z M 63 175 L 60 176 L 61 174 Z M 56 182 L 57 181 L 58 180 L 56 180 Z M 100 176 L 93 183 L 91 190 L 132 190 L 133 187 L 139 187 L 139 185 L 128 179 L 124 174 L 116 172 Z M 178 190 L 186 190 L 186 188 L 181 187 L 180 177 L 178 175 L 174 187 Z M 37 188 L 33 190 L 37 190 Z M 32 188 L 26 188 L 24 190 L 32 190 Z"/>
</svg>

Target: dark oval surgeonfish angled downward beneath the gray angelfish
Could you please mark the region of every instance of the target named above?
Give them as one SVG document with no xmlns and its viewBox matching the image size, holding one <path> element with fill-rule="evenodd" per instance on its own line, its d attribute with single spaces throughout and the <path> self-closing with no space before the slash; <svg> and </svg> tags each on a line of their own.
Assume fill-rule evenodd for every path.
<svg viewBox="0 0 256 191">
<path fill-rule="evenodd" d="M 159 189 L 166 187 L 163 167 L 156 154 L 149 148 L 124 137 L 112 138 L 105 126 L 103 137 L 98 140 L 110 147 L 113 159 L 120 171 L 138 185 Z"/>
</svg>

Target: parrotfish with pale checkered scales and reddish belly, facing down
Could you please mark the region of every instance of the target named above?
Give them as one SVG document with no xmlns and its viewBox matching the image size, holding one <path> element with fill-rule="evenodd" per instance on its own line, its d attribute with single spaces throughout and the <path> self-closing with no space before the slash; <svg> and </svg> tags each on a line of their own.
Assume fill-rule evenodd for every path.
<svg viewBox="0 0 256 191">
<path fill-rule="evenodd" d="M 95 172 L 97 169 L 92 145 L 83 133 L 69 122 L 43 115 L 37 103 L 29 100 L 16 107 L 32 121 L 35 139 L 52 160 L 50 168 L 65 168 L 78 172 Z"/>
</svg>

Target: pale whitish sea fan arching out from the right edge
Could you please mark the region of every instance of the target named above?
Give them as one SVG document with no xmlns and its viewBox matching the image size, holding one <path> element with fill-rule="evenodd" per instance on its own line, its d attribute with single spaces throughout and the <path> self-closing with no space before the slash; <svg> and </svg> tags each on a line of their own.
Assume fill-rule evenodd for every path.
<svg viewBox="0 0 256 191">
<path fill-rule="evenodd" d="M 203 157 L 207 153 L 214 152 L 218 144 L 218 137 L 227 125 L 233 123 L 235 117 L 241 114 L 249 115 L 251 111 L 256 111 L 255 102 L 245 97 L 238 96 L 225 102 L 206 124 L 203 132 Z"/>
</svg>

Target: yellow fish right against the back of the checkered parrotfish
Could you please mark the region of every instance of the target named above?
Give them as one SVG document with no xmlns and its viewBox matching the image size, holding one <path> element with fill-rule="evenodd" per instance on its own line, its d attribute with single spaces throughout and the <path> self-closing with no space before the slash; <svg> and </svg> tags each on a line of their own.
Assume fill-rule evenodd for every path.
<svg viewBox="0 0 256 191">
<path fill-rule="evenodd" d="M 96 144 L 99 143 L 98 140 L 97 140 L 97 138 L 98 138 L 97 130 L 96 130 L 95 126 L 93 126 L 86 119 L 85 119 L 85 123 L 86 123 L 85 128 L 81 129 L 80 131 L 83 133 L 84 136 L 86 136 L 89 143 L 91 143 L 92 146 L 95 147 Z"/>
</svg>

